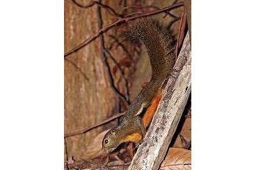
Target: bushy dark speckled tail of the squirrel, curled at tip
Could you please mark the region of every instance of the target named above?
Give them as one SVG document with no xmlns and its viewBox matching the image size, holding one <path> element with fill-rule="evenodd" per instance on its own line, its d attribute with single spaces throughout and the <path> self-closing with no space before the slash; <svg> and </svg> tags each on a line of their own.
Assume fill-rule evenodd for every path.
<svg viewBox="0 0 256 170">
<path fill-rule="evenodd" d="M 163 79 L 170 75 L 175 65 L 175 40 L 166 26 L 151 18 L 129 22 L 122 33 L 131 42 L 143 42 L 150 57 L 152 79 Z"/>
</svg>

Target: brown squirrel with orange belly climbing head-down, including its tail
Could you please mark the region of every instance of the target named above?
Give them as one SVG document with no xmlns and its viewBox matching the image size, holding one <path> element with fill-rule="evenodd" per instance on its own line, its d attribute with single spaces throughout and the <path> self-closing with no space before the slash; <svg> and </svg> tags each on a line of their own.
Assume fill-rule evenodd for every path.
<svg viewBox="0 0 256 170">
<path fill-rule="evenodd" d="M 140 41 L 145 44 L 152 76 L 150 82 L 128 106 L 120 123 L 104 136 L 102 148 L 106 153 L 111 153 L 124 142 L 142 142 L 145 128 L 150 124 L 161 99 L 163 83 L 175 65 L 176 41 L 167 26 L 156 19 L 143 17 L 128 22 L 128 28 L 122 33 L 122 37 L 130 42 Z"/>
</svg>

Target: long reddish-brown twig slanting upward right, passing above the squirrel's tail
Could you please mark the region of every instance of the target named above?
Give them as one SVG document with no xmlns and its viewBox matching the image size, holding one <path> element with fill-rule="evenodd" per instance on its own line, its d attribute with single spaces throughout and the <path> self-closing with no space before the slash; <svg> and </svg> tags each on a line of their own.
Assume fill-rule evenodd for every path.
<svg viewBox="0 0 256 170">
<path fill-rule="evenodd" d="M 168 6 L 166 8 L 161 8 L 160 10 L 154 10 L 152 12 L 145 12 L 144 14 L 137 15 L 137 16 L 134 16 L 134 17 L 124 17 L 122 19 L 118 19 L 116 22 L 113 22 L 111 24 L 107 24 L 106 26 L 101 28 L 97 33 L 95 33 L 94 35 L 90 36 L 88 39 L 83 41 L 81 44 L 75 46 L 70 51 L 67 51 L 64 54 L 64 58 L 67 57 L 67 56 L 70 56 L 70 54 L 72 54 L 72 53 L 78 51 L 79 49 L 83 48 L 83 46 L 86 46 L 90 42 L 93 42 L 93 40 L 95 40 L 97 37 L 99 37 L 99 35 L 101 33 L 104 33 L 106 31 L 108 31 L 110 28 L 113 28 L 114 26 L 118 26 L 118 25 L 123 24 L 125 22 L 128 22 L 129 20 L 132 20 L 132 19 L 137 19 L 137 18 L 140 18 L 140 17 L 146 17 L 146 16 L 150 16 L 150 15 L 156 15 L 156 14 L 159 14 L 160 12 L 164 12 L 164 11 L 167 11 L 167 10 L 178 8 L 179 6 L 183 6 L 183 2 L 175 3 L 172 6 Z"/>
</svg>

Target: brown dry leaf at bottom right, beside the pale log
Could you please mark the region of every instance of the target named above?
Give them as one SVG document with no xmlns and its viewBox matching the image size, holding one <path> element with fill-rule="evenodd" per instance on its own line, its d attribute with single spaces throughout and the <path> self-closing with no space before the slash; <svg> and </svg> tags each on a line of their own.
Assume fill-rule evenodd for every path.
<svg viewBox="0 0 256 170">
<path fill-rule="evenodd" d="M 184 148 L 169 148 L 160 170 L 189 170 L 191 169 L 191 151 Z"/>
</svg>

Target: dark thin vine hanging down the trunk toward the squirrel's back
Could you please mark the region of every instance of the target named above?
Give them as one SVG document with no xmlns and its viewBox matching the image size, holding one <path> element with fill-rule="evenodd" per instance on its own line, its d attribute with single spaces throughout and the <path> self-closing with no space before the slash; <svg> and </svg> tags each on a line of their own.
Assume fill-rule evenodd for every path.
<svg viewBox="0 0 256 170">
<path fill-rule="evenodd" d="M 102 22 L 102 13 L 101 13 L 101 8 L 99 6 L 97 7 L 97 15 L 98 15 L 97 17 L 98 17 L 99 28 L 102 28 L 102 24 L 103 24 L 103 22 Z M 105 48 L 104 37 L 103 37 L 102 33 L 99 35 L 99 42 L 100 42 L 100 49 L 101 49 L 101 53 L 102 53 L 102 61 L 103 61 L 103 64 L 104 64 L 104 66 L 106 67 L 106 70 L 107 70 L 106 74 L 109 78 L 109 83 L 110 83 L 111 89 L 113 90 L 113 92 L 115 92 L 115 94 L 120 99 L 122 99 L 122 101 L 129 104 L 129 101 L 127 101 L 125 96 L 123 96 L 119 92 L 118 88 L 115 87 L 114 79 L 113 79 L 113 76 L 111 74 L 111 67 L 109 66 L 109 63 L 106 60 L 106 54 L 105 54 L 106 48 Z"/>
</svg>

